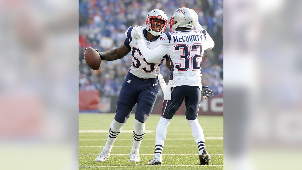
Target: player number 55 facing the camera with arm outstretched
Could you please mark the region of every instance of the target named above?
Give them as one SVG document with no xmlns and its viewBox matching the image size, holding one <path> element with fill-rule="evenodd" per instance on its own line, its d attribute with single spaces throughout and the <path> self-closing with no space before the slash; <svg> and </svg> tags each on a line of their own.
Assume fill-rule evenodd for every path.
<svg viewBox="0 0 302 170">
<path fill-rule="evenodd" d="M 139 149 L 145 134 L 145 121 L 151 113 L 158 93 L 158 78 L 160 65 L 166 60 L 167 67 L 170 62 L 167 55 L 158 57 L 153 62 L 147 62 L 135 44 L 131 32 L 137 28 L 142 34 L 142 39 L 149 49 L 159 45 L 159 37 L 168 25 L 168 18 L 165 12 L 159 9 L 150 11 L 146 18 L 146 27 L 132 26 L 125 33 L 126 39 L 120 47 L 106 52 L 99 52 L 102 60 L 117 60 L 126 56 L 130 51 L 132 64 L 126 76 L 117 100 L 116 114 L 109 128 L 107 142 L 102 152 L 97 156 L 95 162 L 105 162 L 109 158 L 113 143 L 126 123 L 137 103 L 135 122 L 133 128 L 133 146 L 130 151 L 129 162 L 139 162 Z M 96 49 L 97 50 L 97 49 Z M 97 50 L 98 51 L 98 50 Z"/>
</svg>

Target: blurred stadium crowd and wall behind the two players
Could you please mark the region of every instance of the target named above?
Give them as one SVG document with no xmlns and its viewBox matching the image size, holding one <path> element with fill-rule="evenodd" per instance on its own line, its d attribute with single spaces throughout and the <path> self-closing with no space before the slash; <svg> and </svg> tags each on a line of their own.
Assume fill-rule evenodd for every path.
<svg viewBox="0 0 302 170">
<path fill-rule="evenodd" d="M 114 113 L 117 96 L 131 65 L 131 55 L 120 60 L 102 60 L 98 71 L 84 60 L 84 48 L 108 51 L 124 43 L 125 31 L 133 25 L 145 26 L 152 9 L 163 10 L 168 21 L 179 7 L 194 9 L 199 22 L 211 35 L 215 47 L 205 51 L 201 62 L 203 85 L 214 91 L 212 99 L 202 99 L 199 114 L 223 115 L 223 1 L 222 0 L 79 0 L 79 112 Z M 168 24 L 165 32 L 171 31 Z M 162 64 L 166 82 L 169 70 Z M 159 90 L 153 113 L 161 113 L 163 94 Z M 135 112 L 136 107 L 133 109 Z M 184 114 L 184 104 L 176 114 Z"/>
</svg>

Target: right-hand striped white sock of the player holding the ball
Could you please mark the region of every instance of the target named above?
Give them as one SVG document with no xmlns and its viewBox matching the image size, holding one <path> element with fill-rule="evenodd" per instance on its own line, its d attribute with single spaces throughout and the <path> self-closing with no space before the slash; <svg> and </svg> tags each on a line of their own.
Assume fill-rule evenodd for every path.
<svg viewBox="0 0 302 170">
<path fill-rule="evenodd" d="M 145 132 L 145 123 L 141 123 L 137 119 L 135 119 L 133 128 L 132 151 L 139 152 L 140 144 L 142 143 L 143 137 L 145 136 Z"/>
</svg>

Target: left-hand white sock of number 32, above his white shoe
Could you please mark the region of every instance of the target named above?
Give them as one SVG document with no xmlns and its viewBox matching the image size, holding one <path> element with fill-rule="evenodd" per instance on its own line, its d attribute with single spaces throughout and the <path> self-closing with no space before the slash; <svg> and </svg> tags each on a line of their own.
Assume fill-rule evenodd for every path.
<svg viewBox="0 0 302 170">
<path fill-rule="evenodd" d="M 159 123 L 156 127 L 156 135 L 155 135 L 155 153 L 162 154 L 162 149 L 164 146 L 164 141 L 167 136 L 167 128 L 171 119 L 166 119 L 160 117 Z"/>
</svg>

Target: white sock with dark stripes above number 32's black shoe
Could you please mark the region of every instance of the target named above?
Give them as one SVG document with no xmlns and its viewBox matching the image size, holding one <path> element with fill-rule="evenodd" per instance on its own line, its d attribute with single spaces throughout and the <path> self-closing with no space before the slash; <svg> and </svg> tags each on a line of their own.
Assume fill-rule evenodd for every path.
<svg viewBox="0 0 302 170">
<path fill-rule="evenodd" d="M 195 142 L 199 149 L 199 155 L 205 150 L 205 143 L 204 143 L 204 131 L 200 124 L 198 123 L 198 119 L 195 120 L 187 120 L 189 126 L 192 130 L 192 135 L 195 139 Z"/>
</svg>

